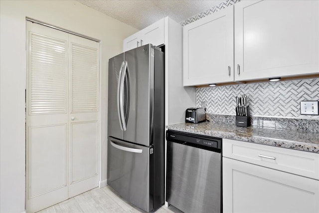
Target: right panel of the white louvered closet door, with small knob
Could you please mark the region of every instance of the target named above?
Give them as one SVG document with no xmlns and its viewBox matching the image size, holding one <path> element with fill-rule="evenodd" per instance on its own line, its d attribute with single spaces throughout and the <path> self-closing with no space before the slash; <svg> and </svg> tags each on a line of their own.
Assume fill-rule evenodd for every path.
<svg viewBox="0 0 319 213">
<path fill-rule="evenodd" d="M 99 43 L 69 35 L 69 197 L 98 186 Z"/>
</svg>

